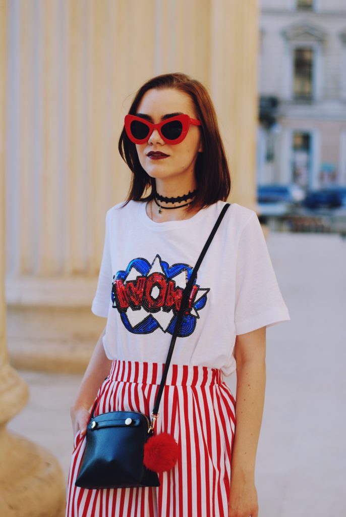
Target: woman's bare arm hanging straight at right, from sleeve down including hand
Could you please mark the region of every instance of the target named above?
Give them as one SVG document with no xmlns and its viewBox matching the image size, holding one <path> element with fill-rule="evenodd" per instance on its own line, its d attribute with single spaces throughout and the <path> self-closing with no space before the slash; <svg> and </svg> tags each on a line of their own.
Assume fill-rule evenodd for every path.
<svg viewBox="0 0 346 517">
<path fill-rule="evenodd" d="M 258 516 L 255 461 L 264 406 L 265 330 L 261 327 L 235 340 L 237 398 L 229 517 Z"/>
</svg>

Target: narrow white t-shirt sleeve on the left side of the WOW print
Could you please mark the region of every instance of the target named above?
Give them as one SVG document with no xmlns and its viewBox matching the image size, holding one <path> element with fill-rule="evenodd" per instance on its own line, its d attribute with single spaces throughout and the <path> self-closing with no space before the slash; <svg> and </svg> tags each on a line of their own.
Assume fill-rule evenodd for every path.
<svg viewBox="0 0 346 517">
<path fill-rule="evenodd" d="M 112 295 L 112 261 L 110 247 L 110 230 L 109 230 L 109 210 L 106 213 L 105 221 L 105 238 L 103 246 L 103 255 L 100 266 L 99 280 L 97 284 L 96 294 L 92 300 L 91 311 L 96 316 L 106 318 L 108 316 L 109 302 Z"/>
</svg>

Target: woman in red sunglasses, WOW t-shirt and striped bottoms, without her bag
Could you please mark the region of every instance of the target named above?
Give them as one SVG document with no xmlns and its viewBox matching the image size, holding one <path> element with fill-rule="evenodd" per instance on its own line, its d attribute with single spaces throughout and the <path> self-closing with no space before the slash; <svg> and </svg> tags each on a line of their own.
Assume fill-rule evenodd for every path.
<svg viewBox="0 0 346 517">
<path fill-rule="evenodd" d="M 95 397 L 96 415 L 152 411 L 181 292 L 230 192 L 211 99 L 184 74 L 160 75 L 138 90 L 119 151 L 132 184 L 127 203 L 106 214 L 91 309 L 107 323 L 71 408 L 66 515 L 257 517 L 265 329 L 290 316 L 256 212 L 236 203 L 198 271 L 156 420 L 156 433 L 178 443 L 176 466 L 159 475 L 158 488 L 74 485 Z M 236 369 L 237 424 L 223 381 Z"/>
</svg>

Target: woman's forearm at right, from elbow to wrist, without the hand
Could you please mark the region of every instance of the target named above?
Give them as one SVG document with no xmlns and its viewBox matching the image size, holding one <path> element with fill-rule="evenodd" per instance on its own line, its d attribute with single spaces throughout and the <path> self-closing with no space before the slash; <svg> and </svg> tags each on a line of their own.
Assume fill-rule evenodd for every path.
<svg viewBox="0 0 346 517">
<path fill-rule="evenodd" d="M 237 361 L 232 475 L 254 480 L 265 392 L 265 359 Z"/>
</svg>

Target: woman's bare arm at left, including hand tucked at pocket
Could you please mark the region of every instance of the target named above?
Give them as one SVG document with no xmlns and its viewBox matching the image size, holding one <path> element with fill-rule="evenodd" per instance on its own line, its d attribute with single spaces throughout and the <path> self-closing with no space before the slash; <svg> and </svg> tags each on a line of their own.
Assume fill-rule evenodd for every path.
<svg viewBox="0 0 346 517">
<path fill-rule="evenodd" d="M 78 430 L 81 430 L 81 435 L 86 433 L 91 405 L 101 384 L 111 370 L 112 360 L 107 358 L 102 343 L 105 332 L 106 327 L 96 343 L 81 385 L 71 406 L 70 413 L 74 435 Z"/>
</svg>

